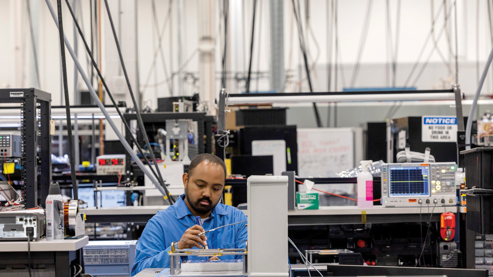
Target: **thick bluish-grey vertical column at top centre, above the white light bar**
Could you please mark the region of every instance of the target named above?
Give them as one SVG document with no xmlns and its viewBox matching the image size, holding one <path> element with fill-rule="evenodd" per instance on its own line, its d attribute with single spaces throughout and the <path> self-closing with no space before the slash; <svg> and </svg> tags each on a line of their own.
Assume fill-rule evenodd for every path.
<svg viewBox="0 0 493 277">
<path fill-rule="evenodd" d="M 284 24 L 283 0 L 269 1 L 271 25 L 271 90 L 283 91 L 284 85 Z"/>
</svg>

